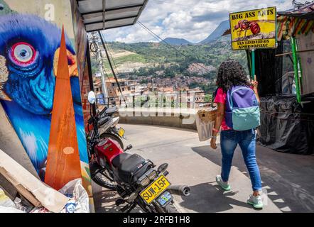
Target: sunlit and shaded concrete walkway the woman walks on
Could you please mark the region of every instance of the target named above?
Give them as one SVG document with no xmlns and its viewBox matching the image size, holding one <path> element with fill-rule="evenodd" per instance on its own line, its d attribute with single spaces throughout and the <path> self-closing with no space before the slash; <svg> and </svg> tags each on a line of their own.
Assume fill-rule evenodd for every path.
<svg viewBox="0 0 314 227">
<path fill-rule="evenodd" d="M 138 153 L 156 165 L 168 162 L 172 184 L 187 184 L 188 197 L 175 196 L 175 206 L 182 212 L 313 212 L 314 156 L 290 155 L 258 146 L 256 156 L 261 170 L 264 209 L 255 210 L 246 203 L 251 182 L 241 150 L 237 148 L 229 183 L 232 192 L 217 187 L 220 174 L 220 149 L 209 142 L 199 142 L 195 131 L 159 126 L 122 125 L 128 141 Z M 93 185 L 97 212 L 117 212 L 115 192 Z M 136 209 L 134 212 L 141 212 Z"/>
</svg>

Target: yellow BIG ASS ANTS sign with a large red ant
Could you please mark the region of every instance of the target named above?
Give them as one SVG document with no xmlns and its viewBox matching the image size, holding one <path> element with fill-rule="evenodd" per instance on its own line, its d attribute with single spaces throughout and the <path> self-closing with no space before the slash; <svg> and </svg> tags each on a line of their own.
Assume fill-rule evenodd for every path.
<svg viewBox="0 0 314 227">
<path fill-rule="evenodd" d="M 276 7 L 230 13 L 232 50 L 276 48 Z"/>
</svg>

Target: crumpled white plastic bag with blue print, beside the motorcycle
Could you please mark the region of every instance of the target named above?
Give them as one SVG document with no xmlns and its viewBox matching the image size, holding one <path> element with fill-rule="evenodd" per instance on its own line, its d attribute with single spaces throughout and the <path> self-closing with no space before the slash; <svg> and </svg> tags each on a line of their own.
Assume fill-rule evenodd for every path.
<svg viewBox="0 0 314 227">
<path fill-rule="evenodd" d="M 60 213 L 90 213 L 88 194 L 82 186 L 82 179 L 74 179 L 59 190 L 71 199 Z"/>
</svg>

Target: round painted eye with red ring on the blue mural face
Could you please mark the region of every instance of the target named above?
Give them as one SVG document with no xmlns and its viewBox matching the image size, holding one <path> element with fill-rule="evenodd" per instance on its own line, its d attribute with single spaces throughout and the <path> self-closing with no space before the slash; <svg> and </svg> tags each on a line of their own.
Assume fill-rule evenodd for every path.
<svg viewBox="0 0 314 227">
<path fill-rule="evenodd" d="M 29 43 L 16 43 L 11 48 L 11 59 L 17 65 L 31 65 L 36 57 L 36 50 Z"/>
</svg>

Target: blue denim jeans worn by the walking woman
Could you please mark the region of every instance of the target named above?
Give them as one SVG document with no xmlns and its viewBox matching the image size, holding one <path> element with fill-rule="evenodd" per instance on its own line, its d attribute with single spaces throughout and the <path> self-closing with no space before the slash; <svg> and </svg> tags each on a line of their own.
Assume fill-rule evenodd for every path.
<svg viewBox="0 0 314 227">
<path fill-rule="evenodd" d="M 253 191 L 261 190 L 261 175 L 259 174 L 259 166 L 256 162 L 256 133 L 254 129 L 247 131 L 222 131 L 220 134 L 220 146 L 222 148 L 222 180 L 227 182 L 232 165 L 234 150 L 239 144 L 245 165 L 249 176 Z"/>
</svg>

